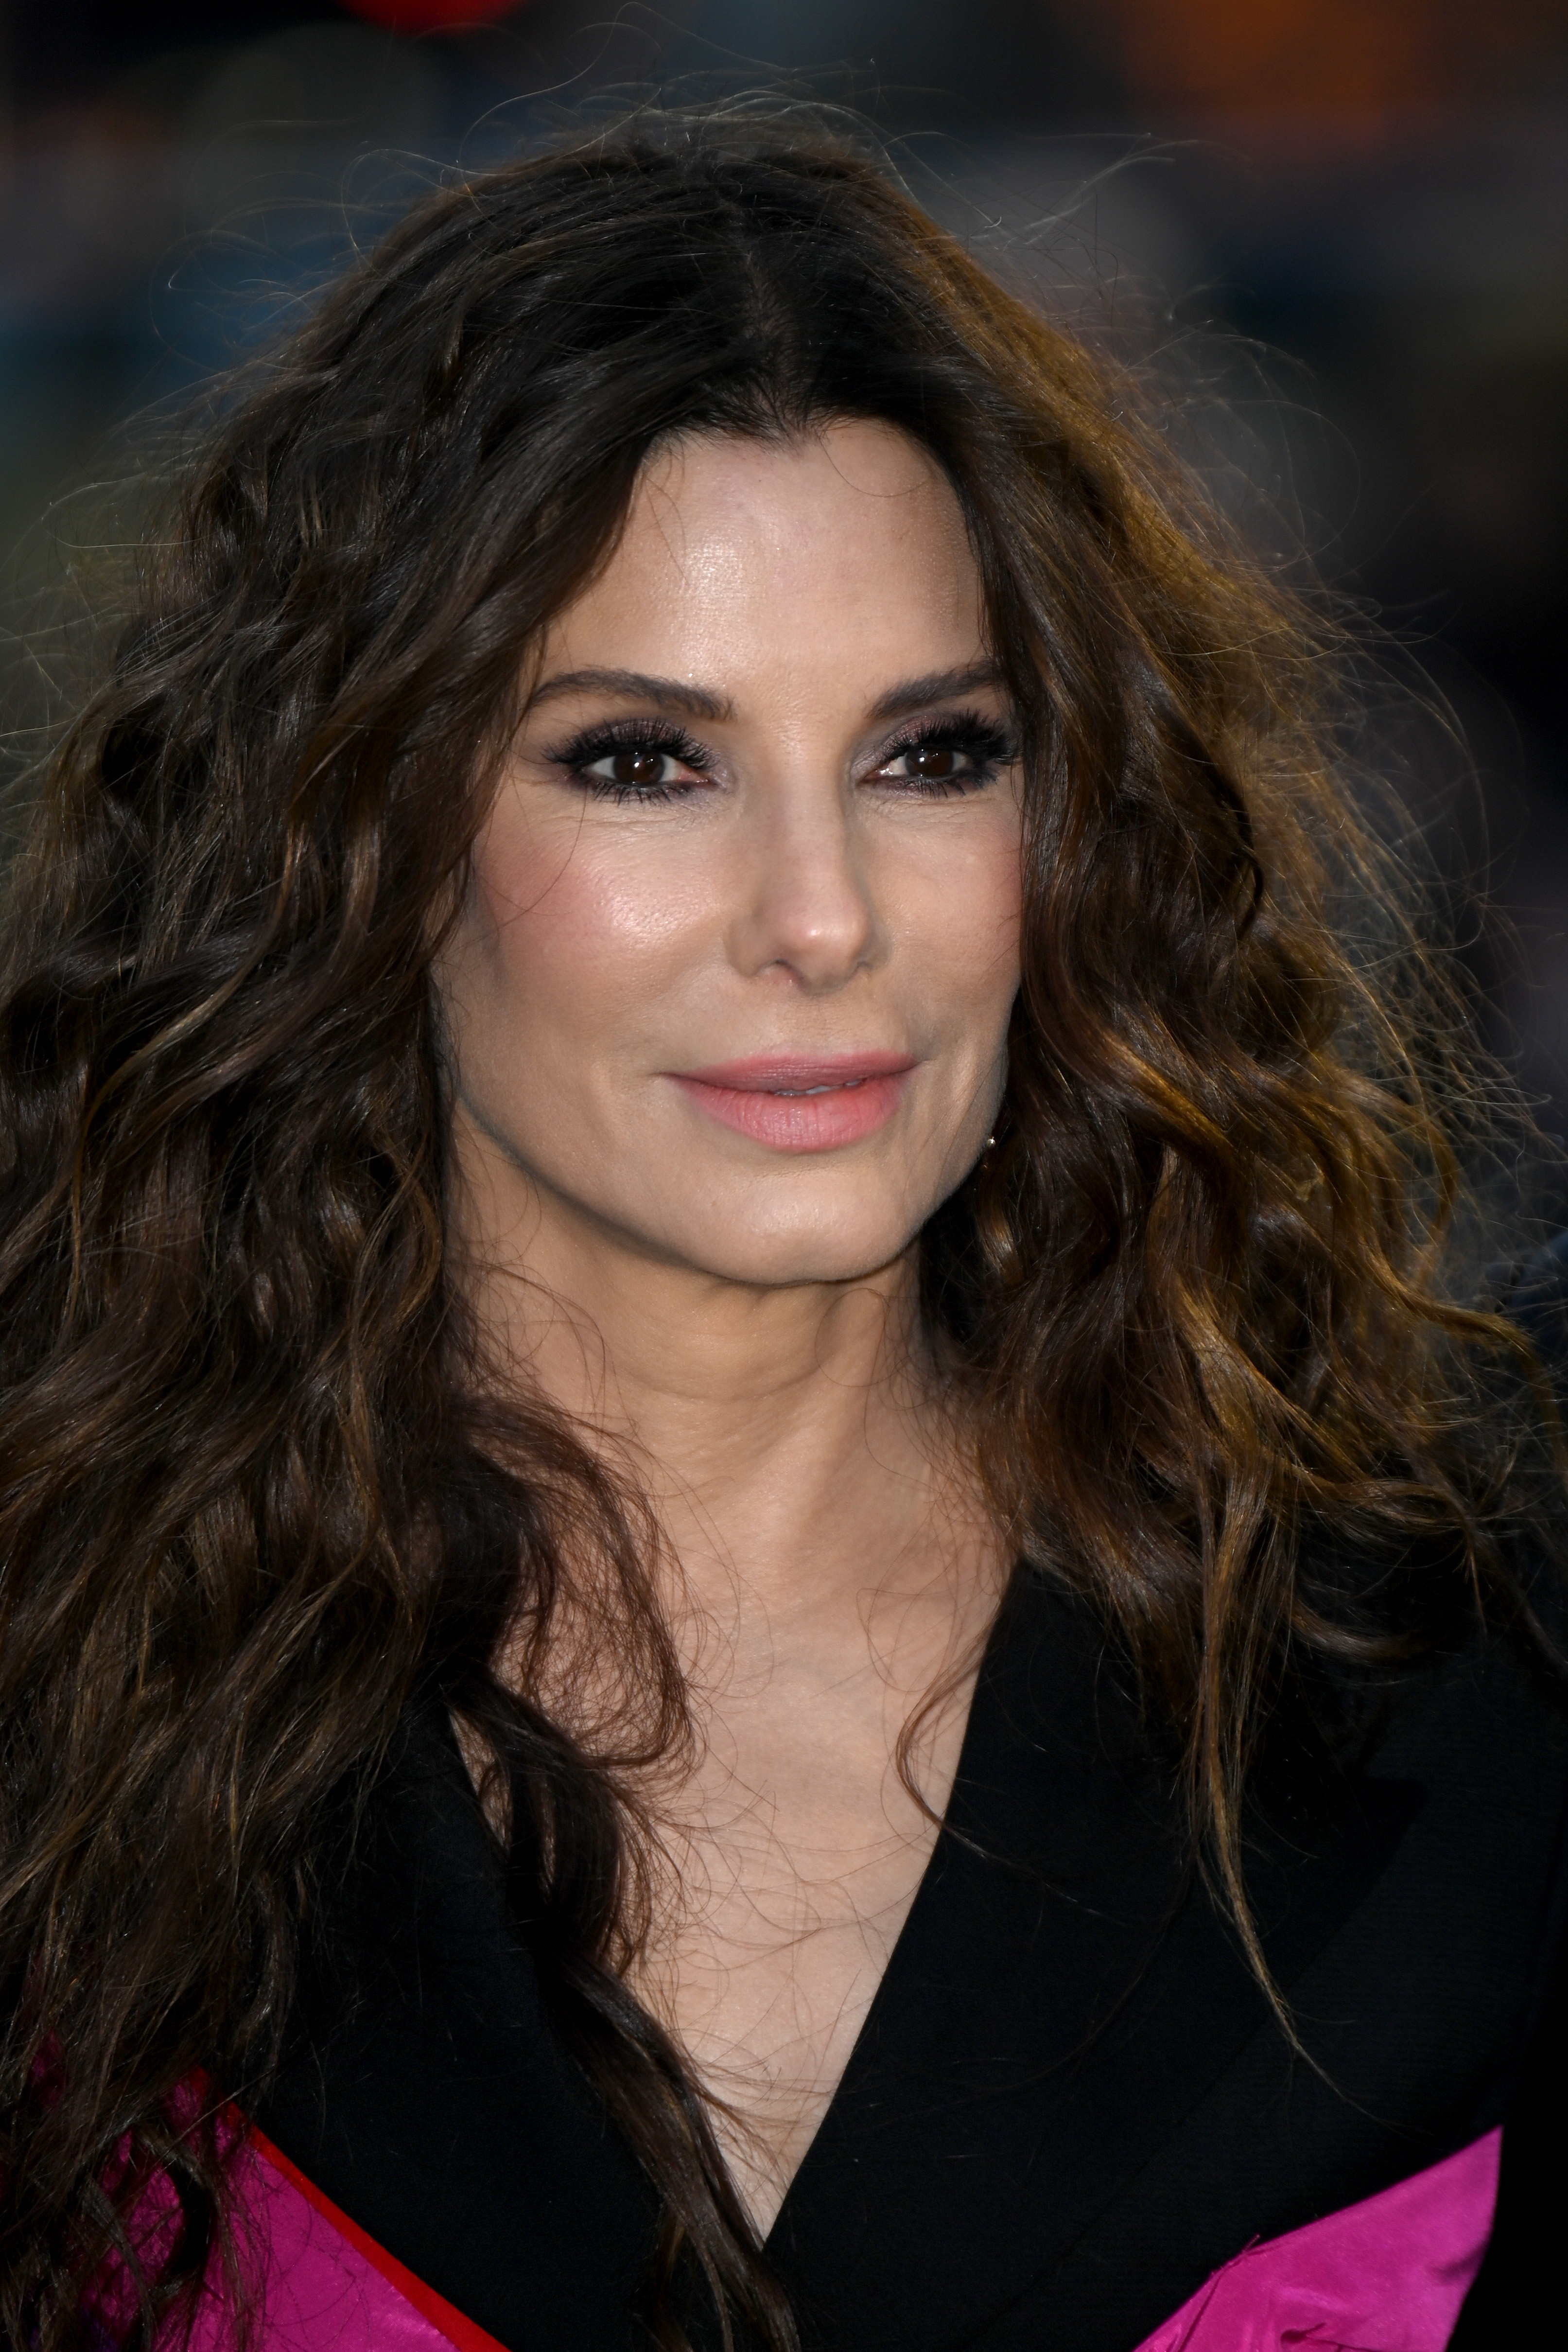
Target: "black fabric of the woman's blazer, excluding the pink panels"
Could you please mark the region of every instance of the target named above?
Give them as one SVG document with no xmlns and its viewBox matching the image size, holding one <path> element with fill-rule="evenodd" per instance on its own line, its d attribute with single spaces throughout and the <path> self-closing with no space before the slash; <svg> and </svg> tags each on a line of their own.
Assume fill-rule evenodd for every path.
<svg viewBox="0 0 1568 2352">
<path fill-rule="evenodd" d="M 1500 2218 L 1455 2343 L 1530 2340 L 1512 2314 L 1568 2185 L 1568 1715 L 1472 1632 L 1399 1682 L 1354 1769 L 1281 1788 L 1248 1877 L 1314 2065 L 1185 1867 L 1086 1613 L 1020 1583 L 769 2239 L 806 2347 L 1131 2352 L 1251 2239 L 1497 2124 Z M 651 2187 L 550 2027 L 435 1715 L 409 1719 L 256 2119 L 512 2352 L 646 2343 Z M 701 2312 L 693 2336 L 717 2340 Z"/>
</svg>

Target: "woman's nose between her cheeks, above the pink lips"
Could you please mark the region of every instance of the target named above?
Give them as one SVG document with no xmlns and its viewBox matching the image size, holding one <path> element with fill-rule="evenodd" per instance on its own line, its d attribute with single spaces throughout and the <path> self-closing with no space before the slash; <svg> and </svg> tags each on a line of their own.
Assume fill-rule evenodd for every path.
<svg viewBox="0 0 1568 2352">
<path fill-rule="evenodd" d="M 745 978 L 776 971 L 816 995 L 879 962 L 865 842 L 837 790 L 769 795 L 745 833 L 745 882 L 729 936 Z"/>
</svg>

